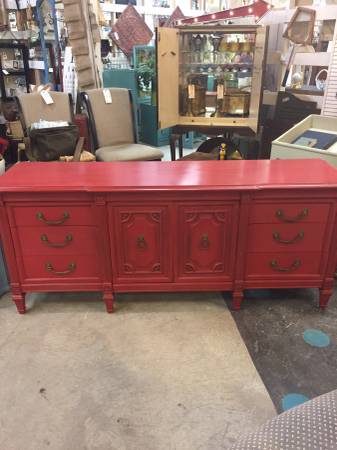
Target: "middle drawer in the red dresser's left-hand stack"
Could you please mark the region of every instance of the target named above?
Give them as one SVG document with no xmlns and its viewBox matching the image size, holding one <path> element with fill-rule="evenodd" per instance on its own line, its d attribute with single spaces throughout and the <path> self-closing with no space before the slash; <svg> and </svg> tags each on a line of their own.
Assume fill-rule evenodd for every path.
<svg viewBox="0 0 337 450">
<path fill-rule="evenodd" d="M 17 235 L 23 255 L 95 255 L 95 227 L 19 227 Z"/>
</svg>

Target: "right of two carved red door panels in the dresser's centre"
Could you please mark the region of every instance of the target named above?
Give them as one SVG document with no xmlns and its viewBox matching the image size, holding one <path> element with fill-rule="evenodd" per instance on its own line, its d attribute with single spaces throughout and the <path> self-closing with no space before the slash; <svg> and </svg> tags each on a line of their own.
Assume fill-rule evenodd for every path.
<svg viewBox="0 0 337 450">
<path fill-rule="evenodd" d="M 232 279 L 236 225 L 237 207 L 234 205 L 181 207 L 178 278 Z"/>
</svg>

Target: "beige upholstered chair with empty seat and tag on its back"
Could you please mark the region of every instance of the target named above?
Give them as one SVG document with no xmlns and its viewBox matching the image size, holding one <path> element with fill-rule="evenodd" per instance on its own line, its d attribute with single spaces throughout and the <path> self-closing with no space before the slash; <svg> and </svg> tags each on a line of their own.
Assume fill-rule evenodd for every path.
<svg viewBox="0 0 337 450">
<path fill-rule="evenodd" d="M 106 103 L 103 89 L 83 92 L 82 101 L 89 116 L 96 159 L 99 161 L 154 161 L 163 153 L 138 144 L 128 89 L 110 88 L 111 103 Z"/>
</svg>

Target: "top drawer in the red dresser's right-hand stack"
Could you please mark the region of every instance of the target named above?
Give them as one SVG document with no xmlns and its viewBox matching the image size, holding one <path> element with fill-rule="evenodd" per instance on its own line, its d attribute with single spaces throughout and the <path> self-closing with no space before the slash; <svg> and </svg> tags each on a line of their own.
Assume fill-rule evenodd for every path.
<svg viewBox="0 0 337 450">
<path fill-rule="evenodd" d="M 263 203 L 251 209 L 250 223 L 303 223 L 327 221 L 328 204 Z"/>
</svg>

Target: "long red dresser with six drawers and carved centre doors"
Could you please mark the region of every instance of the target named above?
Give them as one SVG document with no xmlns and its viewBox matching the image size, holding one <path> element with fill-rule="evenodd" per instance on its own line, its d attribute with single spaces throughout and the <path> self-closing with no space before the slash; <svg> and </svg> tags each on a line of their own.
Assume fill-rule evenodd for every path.
<svg viewBox="0 0 337 450">
<path fill-rule="evenodd" d="M 20 163 L 0 178 L 13 301 L 29 291 L 332 293 L 337 170 L 322 160 Z"/>
</svg>

